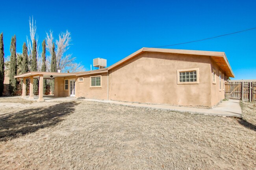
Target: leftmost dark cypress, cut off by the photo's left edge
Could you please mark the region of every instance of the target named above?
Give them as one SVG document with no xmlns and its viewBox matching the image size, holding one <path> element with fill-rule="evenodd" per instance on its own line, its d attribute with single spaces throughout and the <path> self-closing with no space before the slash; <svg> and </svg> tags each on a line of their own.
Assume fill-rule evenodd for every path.
<svg viewBox="0 0 256 170">
<path fill-rule="evenodd" d="M 4 91 L 4 37 L 0 34 L 0 96 Z"/>
</svg>

